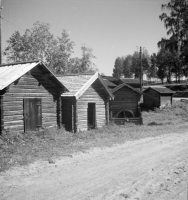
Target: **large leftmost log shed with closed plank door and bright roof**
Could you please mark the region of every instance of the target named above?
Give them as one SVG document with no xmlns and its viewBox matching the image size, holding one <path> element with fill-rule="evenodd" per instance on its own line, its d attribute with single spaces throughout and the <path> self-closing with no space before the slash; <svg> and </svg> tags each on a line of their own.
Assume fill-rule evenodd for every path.
<svg viewBox="0 0 188 200">
<path fill-rule="evenodd" d="M 41 61 L 1 65 L 1 132 L 36 131 L 60 125 L 60 95 L 65 90 Z"/>
</svg>

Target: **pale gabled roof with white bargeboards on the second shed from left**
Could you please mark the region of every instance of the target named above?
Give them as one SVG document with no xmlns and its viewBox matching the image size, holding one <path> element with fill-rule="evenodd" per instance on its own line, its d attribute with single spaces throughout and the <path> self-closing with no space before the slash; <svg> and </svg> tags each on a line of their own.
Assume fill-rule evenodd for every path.
<svg viewBox="0 0 188 200">
<path fill-rule="evenodd" d="M 114 98 L 113 94 L 106 86 L 98 72 L 95 74 L 63 75 L 58 77 L 58 79 L 69 90 L 69 92 L 63 93 L 61 95 L 63 97 L 75 96 L 75 98 L 78 99 L 95 82 L 95 80 L 99 79 L 109 96 L 112 99 Z"/>
</svg>

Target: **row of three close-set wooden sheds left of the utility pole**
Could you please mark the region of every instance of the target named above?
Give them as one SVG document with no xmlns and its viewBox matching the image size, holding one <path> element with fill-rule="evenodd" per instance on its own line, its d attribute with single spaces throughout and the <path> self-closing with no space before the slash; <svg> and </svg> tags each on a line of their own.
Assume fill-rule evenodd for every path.
<svg viewBox="0 0 188 200">
<path fill-rule="evenodd" d="M 0 67 L 0 131 L 68 131 L 102 127 L 115 118 L 140 118 L 140 92 L 95 74 L 57 77 L 42 61 Z"/>
</svg>

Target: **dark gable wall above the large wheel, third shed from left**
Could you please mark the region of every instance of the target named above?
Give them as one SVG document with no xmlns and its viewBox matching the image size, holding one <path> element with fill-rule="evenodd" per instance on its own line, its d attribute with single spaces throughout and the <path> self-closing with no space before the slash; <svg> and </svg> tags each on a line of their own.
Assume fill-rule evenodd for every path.
<svg viewBox="0 0 188 200">
<path fill-rule="evenodd" d="M 135 117 L 139 115 L 138 102 L 140 95 L 128 87 L 122 87 L 113 93 L 114 100 L 110 101 L 110 112 L 114 117 L 122 109 L 131 110 Z"/>
</svg>

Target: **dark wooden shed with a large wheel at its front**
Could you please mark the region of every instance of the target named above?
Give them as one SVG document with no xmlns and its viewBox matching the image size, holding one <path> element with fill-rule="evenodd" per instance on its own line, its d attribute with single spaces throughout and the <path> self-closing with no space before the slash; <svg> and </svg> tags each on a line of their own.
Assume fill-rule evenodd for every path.
<svg viewBox="0 0 188 200">
<path fill-rule="evenodd" d="M 114 100 L 110 101 L 111 120 L 117 124 L 122 124 L 125 121 L 141 124 L 140 91 L 122 83 L 115 87 L 112 93 Z"/>
</svg>

